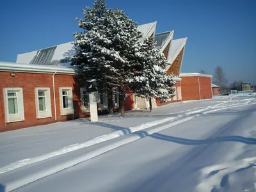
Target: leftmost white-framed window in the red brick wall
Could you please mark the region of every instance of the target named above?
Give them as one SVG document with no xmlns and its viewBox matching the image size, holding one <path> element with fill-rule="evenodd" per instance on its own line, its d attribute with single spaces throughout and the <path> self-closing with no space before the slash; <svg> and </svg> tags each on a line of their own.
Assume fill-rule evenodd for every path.
<svg viewBox="0 0 256 192">
<path fill-rule="evenodd" d="M 3 88 L 6 123 L 25 120 L 22 88 Z"/>
</svg>

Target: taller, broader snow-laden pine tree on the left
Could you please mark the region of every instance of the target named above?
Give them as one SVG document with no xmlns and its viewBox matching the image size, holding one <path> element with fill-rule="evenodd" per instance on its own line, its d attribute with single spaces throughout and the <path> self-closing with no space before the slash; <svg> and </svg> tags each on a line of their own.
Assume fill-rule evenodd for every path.
<svg viewBox="0 0 256 192">
<path fill-rule="evenodd" d="M 70 58 L 71 64 L 81 68 L 79 79 L 97 80 L 109 97 L 117 90 L 124 116 L 125 94 L 134 89 L 130 79 L 141 65 L 136 54 L 142 35 L 132 19 L 118 8 L 107 9 L 104 0 L 96 0 L 83 13 L 84 19 L 76 19 L 84 31 L 74 34 L 76 55 Z"/>
</svg>

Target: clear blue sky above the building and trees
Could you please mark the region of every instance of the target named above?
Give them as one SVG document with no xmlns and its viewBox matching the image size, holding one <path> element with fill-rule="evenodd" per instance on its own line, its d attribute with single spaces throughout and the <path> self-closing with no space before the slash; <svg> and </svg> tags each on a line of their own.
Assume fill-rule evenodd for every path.
<svg viewBox="0 0 256 192">
<path fill-rule="evenodd" d="M 228 83 L 256 83 L 256 1 L 106 0 L 108 8 L 124 10 L 138 24 L 157 20 L 157 32 L 175 30 L 188 37 L 182 72 L 209 74 L 223 67 Z M 1 1 L 0 61 L 17 54 L 74 40 L 75 17 L 93 0 Z"/>
</svg>

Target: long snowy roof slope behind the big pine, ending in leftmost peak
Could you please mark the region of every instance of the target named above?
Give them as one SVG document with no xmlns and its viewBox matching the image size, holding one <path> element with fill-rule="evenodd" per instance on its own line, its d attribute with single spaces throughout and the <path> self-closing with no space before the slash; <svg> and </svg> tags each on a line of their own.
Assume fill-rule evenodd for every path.
<svg viewBox="0 0 256 192">
<path fill-rule="evenodd" d="M 157 22 L 150 22 L 148 24 L 138 26 L 138 30 L 143 33 L 143 37 L 140 39 L 140 41 L 148 36 L 151 36 L 152 33 L 156 31 L 156 24 Z M 16 62 L 35 65 L 60 65 L 67 67 L 70 65 L 70 61 L 66 60 L 65 58 L 74 54 L 74 45 L 72 42 L 68 42 L 37 51 L 18 54 Z"/>
</svg>

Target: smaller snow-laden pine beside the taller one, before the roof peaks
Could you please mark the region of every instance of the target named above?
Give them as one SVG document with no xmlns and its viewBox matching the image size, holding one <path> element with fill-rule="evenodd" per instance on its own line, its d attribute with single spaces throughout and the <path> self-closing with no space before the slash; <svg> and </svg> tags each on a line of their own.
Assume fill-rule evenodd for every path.
<svg viewBox="0 0 256 192">
<path fill-rule="evenodd" d="M 160 52 L 159 47 L 156 47 L 153 37 L 143 42 L 140 51 L 141 63 L 143 65 L 138 65 L 136 72 L 134 72 L 134 79 L 131 81 L 139 84 L 136 90 L 134 90 L 134 94 L 149 99 L 151 112 L 151 98 L 157 98 L 161 102 L 166 102 L 167 99 L 173 97 L 174 89 L 172 86 L 176 82 L 173 81 L 173 76 L 168 75 L 164 69 L 169 64 L 164 54 Z"/>
</svg>

